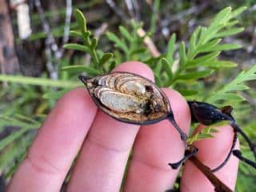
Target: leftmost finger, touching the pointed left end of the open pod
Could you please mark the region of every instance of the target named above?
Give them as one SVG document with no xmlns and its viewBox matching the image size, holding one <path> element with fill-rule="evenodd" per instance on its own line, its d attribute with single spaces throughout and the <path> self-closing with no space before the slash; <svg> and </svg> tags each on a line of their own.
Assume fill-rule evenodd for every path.
<svg viewBox="0 0 256 192">
<path fill-rule="evenodd" d="M 59 191 L 96 111 L 84 89 L 65 94 L 38 131 L 8 191 Z"/>
</svg>

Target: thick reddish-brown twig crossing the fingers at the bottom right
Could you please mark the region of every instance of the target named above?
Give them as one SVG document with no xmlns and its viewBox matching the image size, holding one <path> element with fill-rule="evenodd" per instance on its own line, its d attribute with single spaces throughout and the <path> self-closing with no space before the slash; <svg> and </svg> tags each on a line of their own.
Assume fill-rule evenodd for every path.
<svg viewBox="0 0 256 192">
<path fill-rule="evenodd" d="M 219 178 L 217 178 L 210 170 L 208 166 L 205 166 L 198 158 L 191 157 L 190 161 L 193 162 L 194 166 L 198 167 L 206 178 L 213 184 L 215 191 L 217 192 L 232 192 L 228 186 L 226 186 Z"/>
</svg>

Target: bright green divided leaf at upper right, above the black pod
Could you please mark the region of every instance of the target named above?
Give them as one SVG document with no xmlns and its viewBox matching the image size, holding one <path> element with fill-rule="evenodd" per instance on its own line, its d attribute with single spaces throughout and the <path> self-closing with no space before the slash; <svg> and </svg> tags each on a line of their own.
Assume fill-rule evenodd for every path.
<svg viewBox="0 0 256 192">
<path fill-rule="evenodd" d="M 168 42 L 166 56 L 158 65 L 166 73 L 161 77 L 161 86 L 177 87 L 176 83 L 191 83 L 198 79 L 206 78 L 216 70 L 237 66 L 230 61 L 218 60 L 221 51 L 235 50 L 241 48 L 236 43 L 221 43 L 222 38 L 238 34 L 244 30 L 243 27 L 236 26 L 236 17 L 246 10 L 240 7 L 232 11 L 230 7 L 220 11 L 210 23 L 210 26 L 198 26 L 191 34 L 189 45 L 181 42 L 178 46 L 178 58 L 175 60 L 176 35 L 173 34 Z M 176 63 L 175 63 L 176 62 Z M 186 90 L 185 94 L 198 94 L 195 90 Z"/>
</svg>

